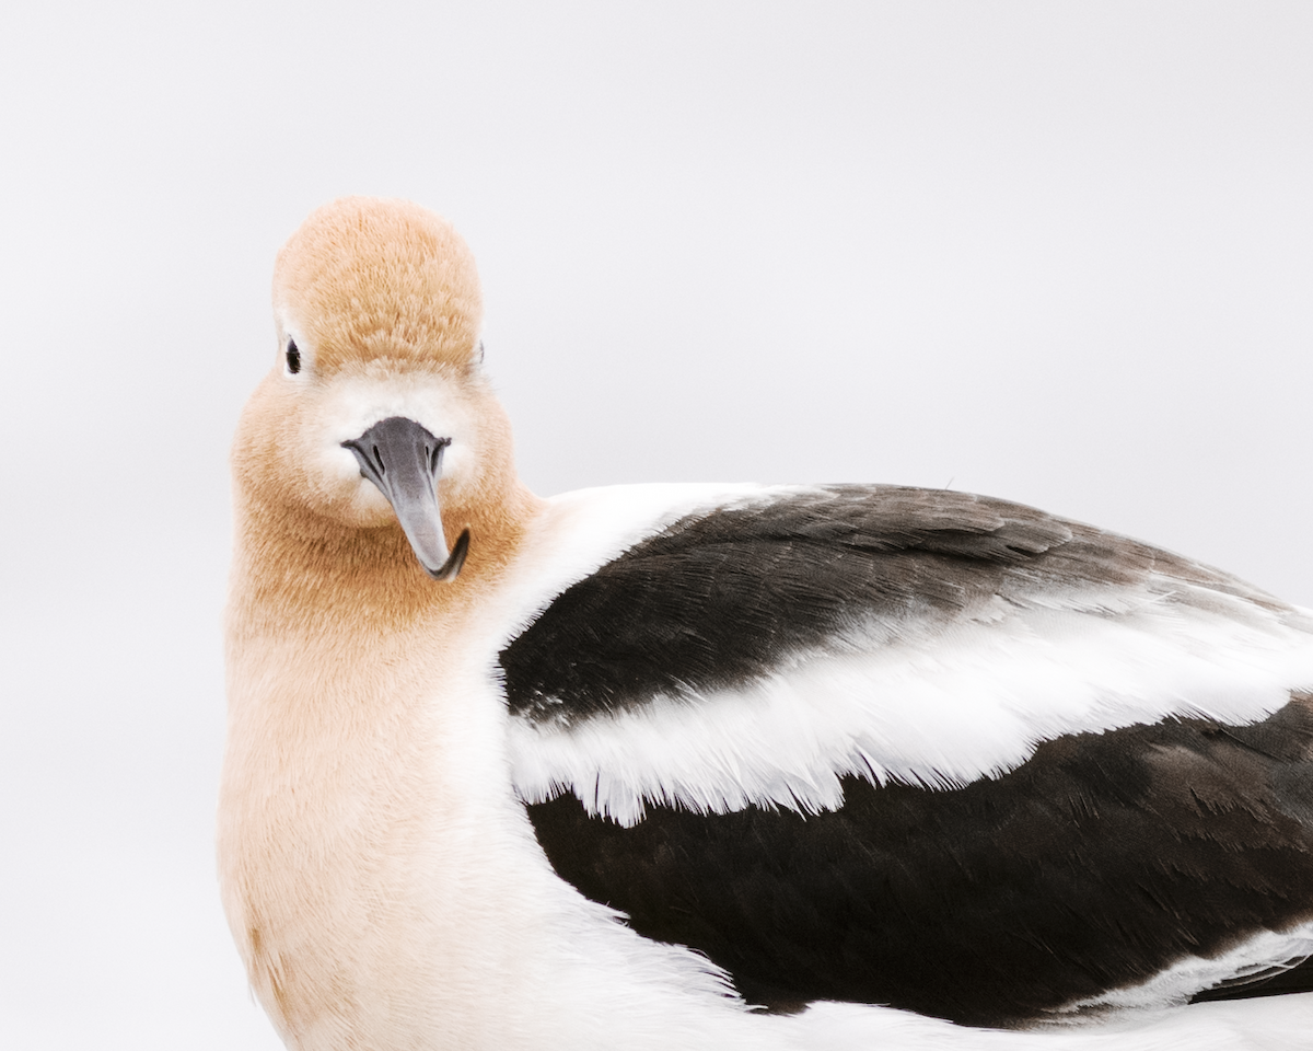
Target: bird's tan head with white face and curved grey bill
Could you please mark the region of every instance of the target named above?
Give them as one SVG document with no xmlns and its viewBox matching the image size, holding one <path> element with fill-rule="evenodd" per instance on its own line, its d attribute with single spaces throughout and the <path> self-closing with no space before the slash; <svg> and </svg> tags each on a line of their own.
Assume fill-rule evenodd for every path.
<svg viewBox="0 0 1313 1051">
<path fill-rule="evenodd" d="M 471 523 L 517 487 L 465 242 L 407 201 L 334 201 L 278 254 L 273 310 L 273 368 L 238 428 L 239 491 L 339 529 L 399 524 L 419 565 L 453 579 L 481 543 Z"/>
</svg>

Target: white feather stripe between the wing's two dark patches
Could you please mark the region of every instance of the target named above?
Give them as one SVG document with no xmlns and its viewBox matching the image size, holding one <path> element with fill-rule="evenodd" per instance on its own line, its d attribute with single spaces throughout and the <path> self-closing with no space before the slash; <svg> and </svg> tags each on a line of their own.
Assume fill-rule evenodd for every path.
<svg viewBox="0 0 1313 1051">
<path fill-rule="evenodd" d="M 832 809 L 844 774 L 960 786 L 1015 769 L 1043 740 L 1170 716 L 1254 723 L 1313 686 L 1313 638 L 1279 616 L 1138 598 L 1116 616 L 993 608 L 915 644 L 815 654 L 742 690 L 569 728 L 515 719 L 515 783 L 529 801 L 569 787 L 626 825 L 646 803 Z"/>
</svg>

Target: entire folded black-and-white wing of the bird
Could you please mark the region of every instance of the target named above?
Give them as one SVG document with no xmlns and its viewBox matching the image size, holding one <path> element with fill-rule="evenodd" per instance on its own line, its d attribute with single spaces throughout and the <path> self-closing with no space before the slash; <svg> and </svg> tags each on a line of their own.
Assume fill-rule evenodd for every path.
<svg viewBox="0 0 1313 1051">
<path fill-rule="evenodd" d="M 769 490 L 502 652 L 548 857 L 743 995 L 977 1025 L 1313 951 L 1313 624 L 1031 508 Z"/>
</svg>

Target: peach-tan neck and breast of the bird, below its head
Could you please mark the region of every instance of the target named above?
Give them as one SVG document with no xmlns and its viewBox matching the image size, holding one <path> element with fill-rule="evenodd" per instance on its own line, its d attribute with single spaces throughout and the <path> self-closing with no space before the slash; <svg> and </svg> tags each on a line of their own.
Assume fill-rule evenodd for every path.
<svg viewBox="0 0 1313 1051">
<path fill-rule="evenodd" d="M 491 987 L 504 970 L 488 946 L 515 945 L 507 921 L 460 888 L 504 878 L 523 813 L 504 813 L 504 708 L 465 654 L 532 524 L 524 497 L 450 515 L 470 554 L 440 583 L 399 528 L 351 533 L 239 495 L 221 883 L 291 1046 L 382 1031 L 437 1010 L 418 987 L 466 972 Z M 431 914 L 435 895 L 449 905 Z"/>
</svg>

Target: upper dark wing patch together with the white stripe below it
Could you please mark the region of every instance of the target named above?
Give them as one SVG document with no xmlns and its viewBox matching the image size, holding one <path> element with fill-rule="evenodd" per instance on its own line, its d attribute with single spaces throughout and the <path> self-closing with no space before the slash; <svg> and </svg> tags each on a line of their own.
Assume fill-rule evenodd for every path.
<svg viewBox="0 0 1313 1051">
<path fill-rule="evenodd" d="M 969 494 L 764 490 L 565 587 L 502 650 L 513 776 L 650 804 L 832 809 L 847 776 L 962 786 L 1062 734 L 1262 720 L 1309 617 L 1178 556 Z"/>
</svg>

